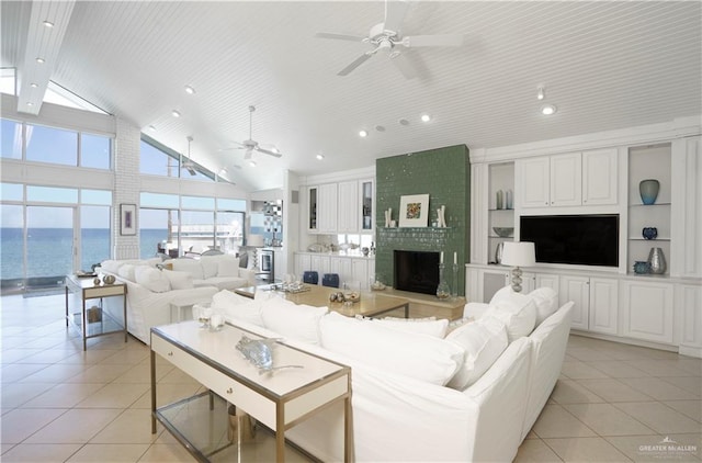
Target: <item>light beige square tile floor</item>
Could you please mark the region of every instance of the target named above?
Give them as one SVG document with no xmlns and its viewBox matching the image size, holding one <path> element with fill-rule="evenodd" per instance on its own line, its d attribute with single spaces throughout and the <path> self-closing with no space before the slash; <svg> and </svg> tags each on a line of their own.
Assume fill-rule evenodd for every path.
<svg viewBox="0 0 702 463">
<path fill-rule="evenodd" d="M 160 425 L 150 432 L 146 346 L 111 335 L 83 352 L 66 329 L 61 295 L 0 304 L 2 462 L 194 461 Z M 166 362 L 158 382 L 163 404 L 202 391 Z M 701 455 L 702 360 L 571 336 L 561 380 L 516 461 Z M 272 456 L 261 450 L 248 461 Z"/>
</svg>

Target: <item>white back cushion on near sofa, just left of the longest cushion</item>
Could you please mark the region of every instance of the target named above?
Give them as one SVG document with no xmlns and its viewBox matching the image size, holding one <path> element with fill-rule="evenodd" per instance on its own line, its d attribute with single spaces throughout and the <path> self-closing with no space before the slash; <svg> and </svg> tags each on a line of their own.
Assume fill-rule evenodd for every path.
<svg viewBox="0 0 702 463">
<path fill-rule="evenodd" d="M 262 302 L 263 326 L 287 338 L 319 343 L 319 319 L 327 307 L 294 304 L 282 297 L 271 297 Z"/>
</svg>

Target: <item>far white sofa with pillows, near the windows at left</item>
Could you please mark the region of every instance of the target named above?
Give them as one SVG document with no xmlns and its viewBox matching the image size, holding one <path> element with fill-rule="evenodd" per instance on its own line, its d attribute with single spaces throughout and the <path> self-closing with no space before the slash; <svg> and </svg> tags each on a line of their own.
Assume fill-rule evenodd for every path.
<svg viewBox="0 0 702 463">
<path fill-rule="evenodd" d="M 174 270 L 163 268 L 160 258 L 105 260 L 100 264 L 100 272 L 127 285 L 127 331 L 145 343 L 150 342 L 151 327 L 178 319 L 172 318 L 172 302 L 208 302 L 222 289 L 254 284 L 253 271 L 239 268 L 238 259 L 230 256 L 166 261 L 169 262 L 173 262 Z M 103 303 L 109 314 L 122 318 L 120 297 L 107 297 Z"/>
</svg>

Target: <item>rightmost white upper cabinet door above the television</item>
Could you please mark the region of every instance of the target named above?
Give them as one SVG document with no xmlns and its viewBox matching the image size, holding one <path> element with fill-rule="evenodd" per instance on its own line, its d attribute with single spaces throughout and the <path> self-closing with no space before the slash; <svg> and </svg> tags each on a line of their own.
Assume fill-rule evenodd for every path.
<svg viewBox="0 0 702 463">
<path fill-rule="evenodd" d="M 616 149 L 582 153 L 582 205 L 618 203 Z"/>
</svg>

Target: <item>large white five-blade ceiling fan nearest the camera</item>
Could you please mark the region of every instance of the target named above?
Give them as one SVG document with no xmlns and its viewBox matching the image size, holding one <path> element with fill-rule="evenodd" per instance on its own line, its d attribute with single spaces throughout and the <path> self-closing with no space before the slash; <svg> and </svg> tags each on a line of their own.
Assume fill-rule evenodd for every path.
<svg viewBox="0 0 702 463">
<path fill-rule="evenodd" d="M 383 50 L 397 66 L 400 72 L 407 78 L 417 77 L 417 72 L 410 61 L 406 60 L 403 52 L 408 48 L 461 46 L 464 43 L 463 35 L 439 34 L 439 35 L 412 35 L 403 36 L 400 29 L 405 14 L 409 8 L 408 1 L 385 1 L 385 21 L 371 27 L 366 37 L 348 34 L 336 34 L 329 32 L 318 32 L 315 34 L 319 38 L 331 38 L 338 41 L 363 42 L 371 44 L 372 49 L 354 59 L 350 65 L 341 69 L 337 75 L 347 76 L 352 70 L 361 66 L 373 55 Z"/>
</svg>

